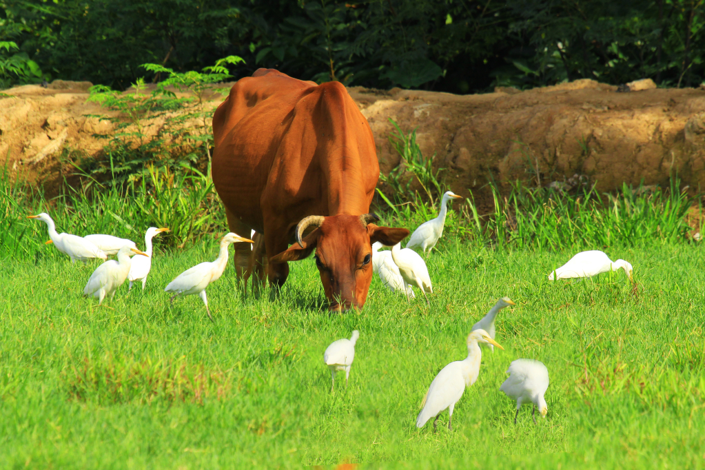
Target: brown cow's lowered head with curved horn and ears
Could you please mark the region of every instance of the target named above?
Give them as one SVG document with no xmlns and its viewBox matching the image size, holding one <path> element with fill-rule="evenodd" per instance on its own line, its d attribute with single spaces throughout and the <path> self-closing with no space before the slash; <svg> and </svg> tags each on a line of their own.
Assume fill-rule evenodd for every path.
<svg viewBox="0 0 705 470">
<path fill-rule="evenodd" d="M 396 245 L 409 235 L 405 228 L 378 227 L 376 221 L 379 217 L 374 214 L 309 216 L 296 227 L 297 242 L 271 261 L 298 261 L 316 249 L 316 266 L 331 310 L 362 309 L 372 281 L 372 243 Z"/>
</svg>

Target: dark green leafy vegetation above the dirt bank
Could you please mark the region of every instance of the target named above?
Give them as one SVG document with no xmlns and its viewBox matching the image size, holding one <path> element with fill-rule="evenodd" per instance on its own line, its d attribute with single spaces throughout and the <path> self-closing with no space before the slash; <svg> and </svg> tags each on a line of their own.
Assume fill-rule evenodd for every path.
<svg viewBox="0 0 705 470">
<path fill-rule="evenodd" d="M 0 86 L 123 89 L 142 63 L 453 93 L 593 78 L 699 85 L 705 0 L 2 0 Z M 148 75 L 148 74 L 147 74 Z"/>
</svg>

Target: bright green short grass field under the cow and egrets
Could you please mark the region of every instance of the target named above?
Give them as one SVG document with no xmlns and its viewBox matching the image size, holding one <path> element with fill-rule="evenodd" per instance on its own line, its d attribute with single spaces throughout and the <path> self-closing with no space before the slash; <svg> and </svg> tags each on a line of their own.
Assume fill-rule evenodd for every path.
<svg viewBox="0 0 705 470">
<path fill-rule="evenodd" d="M 43 231 L 43 228 L 42 228 Z M 357 313 L 329 314 L 312 259 L 280 297 L 244 298 L 232 266 L 173 306 L 164 285 L 216 256 L 213 242 L 158 252 L 144 293 L 80 295 L 97 264 L 6 258 L 0 273 L 0 467 L 703 468 L 701 249 L 609 249 L 635 266 L 549 283 L 569 252 L 492 250 L 446 235 L 428 258 L 431 307 L 374 278 Z M 439 433 L 415 428 L 435 374 L 498 297 L 498 342 Z M 330 392 L 327 345 L 360 330 L 348 388 Z M 544 361 L 548 416 L 498 388 L 510 361 Z M 560 466 L 559 466 L 560 465 Z"/>
</svg>

